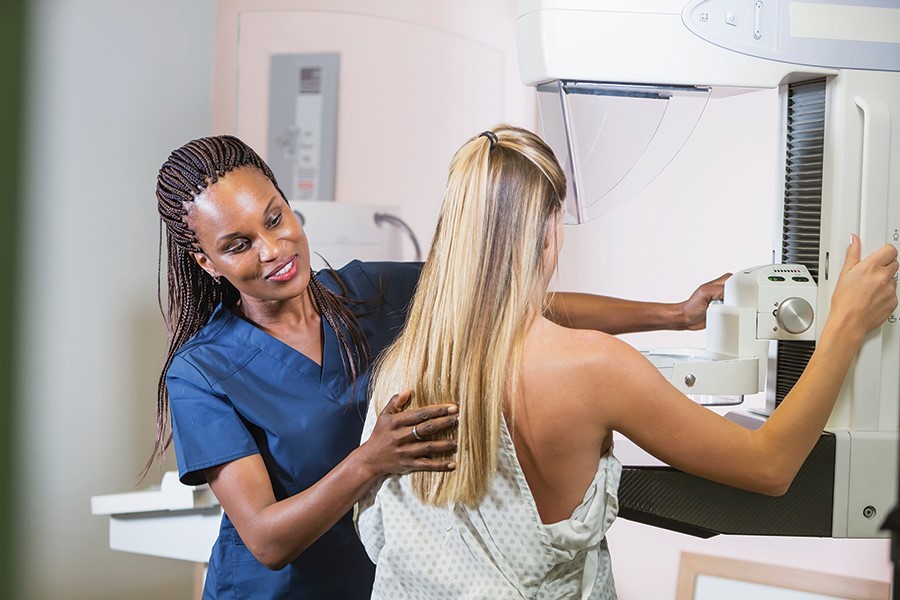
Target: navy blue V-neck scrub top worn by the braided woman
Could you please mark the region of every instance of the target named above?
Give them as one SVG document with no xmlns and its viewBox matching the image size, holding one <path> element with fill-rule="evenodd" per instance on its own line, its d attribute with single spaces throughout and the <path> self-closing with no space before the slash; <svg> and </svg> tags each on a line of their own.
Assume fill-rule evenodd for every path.
<svg viewBox="0 0 900 600">
<path fill-rule="evenodd" d="M 418 263 L 354 261 L 338 271 L 346 292 L 330 271 L 319 280 L 367 302 L 358 319 L 374 357 L 406 320 L 420 270 Z M 321 368 L 222 306 L 179 349 L 166 385 L 182 482 L 206 483 L 204 469 L 260 454 L 282 500 L 322 479 L 359 445 L 369 374 L 354 394 L 334 331 L 325 319 L 322 327 Z M 374 575 L 351 513 L 279 571 L 253 557 L 224 515 L 203 597 L 368 599 Z"/>
</svg>

